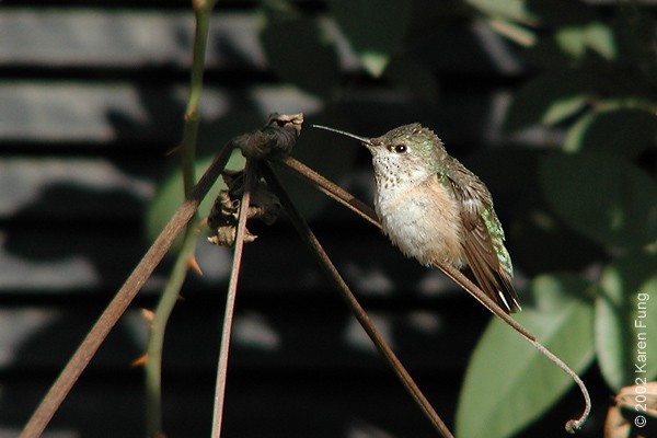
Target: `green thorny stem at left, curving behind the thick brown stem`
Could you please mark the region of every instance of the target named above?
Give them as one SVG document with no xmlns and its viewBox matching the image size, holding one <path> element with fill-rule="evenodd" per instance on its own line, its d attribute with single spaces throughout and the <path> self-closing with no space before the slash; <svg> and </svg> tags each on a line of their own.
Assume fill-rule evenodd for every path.
<svg viewBox="0 0 657 438">
<path fill-rule="evenodd" d="M 185 127 L 181 146 L 183 187 L 185 198 L 189 197 L 196 182 L 196 142 L 198 138 L 198 106 L 203 91 L 203 73 L 207 48 L 210 13 L 215 2 L 193 2 L 196 26 L 189 78 L 189 95 L 185 111 Z M 149 327 L 146 372 L 146 436 L 157 437 L 162 433 L 162 349 L 166 323 L 180 296 L 188 269 L 188 261 L 196 249 L 196 220 L 187 224 L 183 246 L 177 254 L 162 297 L 154 311 Z"/>
</svg>

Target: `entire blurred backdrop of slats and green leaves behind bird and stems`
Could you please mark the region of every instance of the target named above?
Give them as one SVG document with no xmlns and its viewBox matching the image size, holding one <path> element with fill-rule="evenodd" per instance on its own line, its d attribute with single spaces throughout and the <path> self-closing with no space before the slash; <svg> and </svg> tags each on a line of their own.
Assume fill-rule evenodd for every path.
<svg viewBox="0 0 657 438">
<path fill-rule="evenodd" d="M 362 136 L 429 126 L 491 188 L 516 318 L 590 384 L 581 435 L 602 436 L 608 401 L 634 382 L 638 292 L 657 321 L 656 13 L 632 0 L 218 2 L 198 174 L 269 111 L 302 106 L 295 157 L 369 201 L 367 151 L 310 125 Z M 24 424 L 182 198 L 180 158 L 165 152 L 183 130 L 193 18 L 188 0 L 4 0 L 0 21 L 2 435 Z M 580 399 L 554 365 L 503 324 L 485 328 L 474 300 L 378 230 L 293 177 L 286 186 L 458 437 L 562 434 Z M 226 435 L 435 436 L 285 218 L 251 227 L 261 238 L 240 280 Z M 171 437 L 210 424 L 230 251 L 199 247 L 205 276 L 189 275 L 166 332 Z M 169 268 L 55 434 L 142 435 L 137 308 L 152 309 Z M 646 332 L 654 343 L 655 325 Z"/>
</svg>

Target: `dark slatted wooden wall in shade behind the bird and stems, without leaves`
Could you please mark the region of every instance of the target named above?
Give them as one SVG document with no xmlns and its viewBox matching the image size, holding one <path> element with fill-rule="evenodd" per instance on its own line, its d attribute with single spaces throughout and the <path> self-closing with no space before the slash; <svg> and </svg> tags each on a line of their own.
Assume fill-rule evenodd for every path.
<svg viewBox="0 0 657 438">
<path fill-rule="evenodd" d="M 324 110 L 321 99 L 281 83 L 267 68 L 257 37 L 257 5 L 223 1 L 217 7 L 203 102 L 205 154 L 260 127 L 270 112 L 303 111 L 308 125 Z M 309 14 L 325 13 L 320 1 L 299 5 Z M 18 434 L 148 247 L 148 203 L 177 165 L 165 153 L 182 135 L 192 30 L 192 13 L 183 1 L 2 4 L 2 437 Z M 347 50 L 341 59 L 348 92 L 331 111 L 345 120 L 338 127 L 365 136 L 422 122 L 476 172 L 472 153 L 500 145 L 502 114 L 531 71 L 504 39 L 475 21 L 454 20 L 438 34 L 439 48 L 418 48 L 436 57 L 436 95 L 412 97 L 368 79 Z M 545 140 L 527 136 L 530 145 Z M 308 145 L 318 134 L 302 136 L 298 148 L 306 138 Z M 338 183 L 369 201 L 369 157 L 346 145 L 334 143 L 319 159 L 337 163 Z M 481 164 L 485 155 L 480 157 Z M 527 188 L 516 187 L 515 176 L 482 174 L 503 222 L 515 208 L 517 192 Z M 302 199 L 312 191 L 296 184 Z M 311 224 L 337 267 L 436 410 L 452 424 L 464 367 L 489 316 L 442 276 L 403 258 L 377 230 L 342 207 L 309 203 Z M 520 286 L 523 269 L 532 270 L 527 246 L 509 244 L 512 255 L 521 254 Z M 166 334 L 169 437 L 207 436 L 210 428 L 230 252 L 203 243 L 198 253 L 206 276 L 193 275 L 185 285 Z M 560 263 L 568 264 L 567 257 Z M 143 435 L 142 373 L 130 362 L 145 349 L 139 309 L 154 304 L 169 267 L 165 263 L 158 270 L 101 348 L 49 426 L 51 436 Z M 226 437 L 435 436 L 285 220 L 262 229 L 257 242 L 247 246 L 237 312 Z M 579 436 L 597 437 L 611 392 L 597 371 L 584 377 L 597 408 Z M 562 436 L 564 420 L 579 406 L 573 391 L 519 436 Z"/>
</svg>

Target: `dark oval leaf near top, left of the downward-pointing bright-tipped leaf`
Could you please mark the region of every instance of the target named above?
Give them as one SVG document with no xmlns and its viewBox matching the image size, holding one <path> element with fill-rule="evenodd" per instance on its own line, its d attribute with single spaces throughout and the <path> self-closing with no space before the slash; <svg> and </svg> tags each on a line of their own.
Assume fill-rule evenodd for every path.
<svg viewBox="0 0 657 438">
<path fill-rule="evenodd" d="M 341 67 L 316 20 L 293 11 L 269 13 L 261 42 L 269 66 L 284 81 L 318 95 L 333 91 Z"/>
</svg>

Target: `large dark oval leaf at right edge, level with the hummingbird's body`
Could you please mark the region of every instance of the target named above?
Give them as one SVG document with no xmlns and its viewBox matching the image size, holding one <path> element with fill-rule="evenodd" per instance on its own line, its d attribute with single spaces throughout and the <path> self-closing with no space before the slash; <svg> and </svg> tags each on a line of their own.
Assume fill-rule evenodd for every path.
<svg viewBox="0 0 657 438">
<path fill-rule="evenodd" d="M 584 235 L 622 247 L 657 239 L 657 184 L 629 161 L 555 154 L 541 160 L 539 177 L 553 211 Z"/>
</svg>

